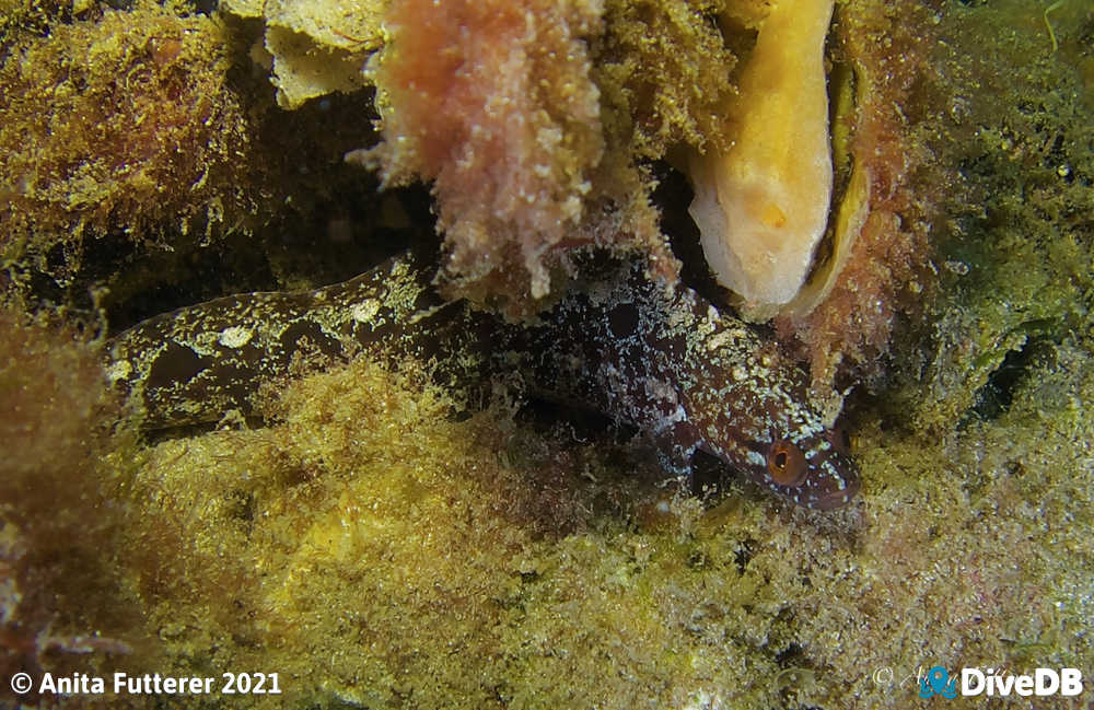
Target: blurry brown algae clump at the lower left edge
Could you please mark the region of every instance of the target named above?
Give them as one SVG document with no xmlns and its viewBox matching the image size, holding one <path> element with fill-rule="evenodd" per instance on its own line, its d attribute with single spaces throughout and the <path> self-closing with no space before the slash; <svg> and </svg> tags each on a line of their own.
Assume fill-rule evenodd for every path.
<svg viewBox="0 0 1094 710">
<path fill-rule="evenodd" d="M 132 521 L 129 445 L 108 435 L 117 410 L 100 353 L 70 328 L 0 306 L 0 675 L 150 668 L 155 647 L 119 563 Z M 12 707 L 5 683 L 0 705 Z M 20 698 L 34 707 L 35 691 Z M 53 698 L 44 699 L 49 706 Z M 82 706 L 73 702 L 72 706 Z M 91 707 L 90 705 L 86 707 Z"/>
</svg>

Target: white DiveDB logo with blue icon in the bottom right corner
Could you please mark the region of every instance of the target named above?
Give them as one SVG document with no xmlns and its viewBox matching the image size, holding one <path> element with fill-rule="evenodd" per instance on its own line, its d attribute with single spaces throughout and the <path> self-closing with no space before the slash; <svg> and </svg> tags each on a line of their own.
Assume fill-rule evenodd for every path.
<svg viewBox="0 0 1094 710">
<path fill-rule="evenodd" d="M 1033 675 L 1014 675 L 994 668 L 962 668 L 961 686 L 943 666 L 936 665 L 919 679 L 919 697 L 956 698 L 962 696 L 1076 696 L 1083 691 L 1079 668 L 1037 668 Z"/>
</svg>

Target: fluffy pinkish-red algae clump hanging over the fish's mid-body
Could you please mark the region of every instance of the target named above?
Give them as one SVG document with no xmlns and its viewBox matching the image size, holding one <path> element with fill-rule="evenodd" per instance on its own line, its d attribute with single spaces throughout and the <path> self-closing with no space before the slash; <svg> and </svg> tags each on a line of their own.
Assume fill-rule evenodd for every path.
<svg viewBox="0 0 1094 710">
<path fill-rule="evenodd" d="M 598 31 L 598 8 L 400 0 L 387 26 L 374 71 L 386 181 L 435 181 L 453 275 L 474 280 L 515 257 L 545 295 L 544 254 L 581 221 L 604 151 L 581 42 Z"/>
</svg>

